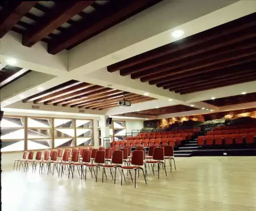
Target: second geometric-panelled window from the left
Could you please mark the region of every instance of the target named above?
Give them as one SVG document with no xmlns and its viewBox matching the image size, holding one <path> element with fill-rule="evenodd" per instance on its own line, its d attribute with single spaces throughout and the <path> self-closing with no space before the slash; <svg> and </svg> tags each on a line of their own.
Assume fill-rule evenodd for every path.
<svg viewBox="0 0 256 211">
<path fill-rule="evenodd" d="M 52 119 L 27 118 L 27 149 L 52 148 Z"/>
</svg>

